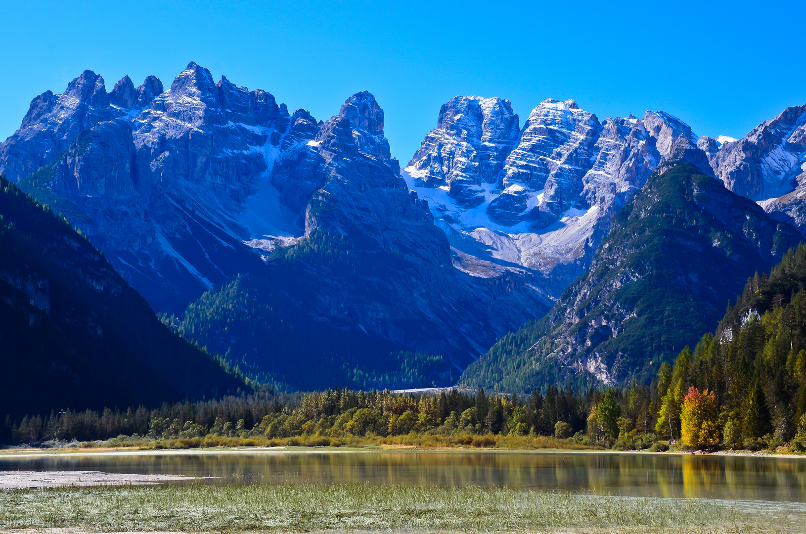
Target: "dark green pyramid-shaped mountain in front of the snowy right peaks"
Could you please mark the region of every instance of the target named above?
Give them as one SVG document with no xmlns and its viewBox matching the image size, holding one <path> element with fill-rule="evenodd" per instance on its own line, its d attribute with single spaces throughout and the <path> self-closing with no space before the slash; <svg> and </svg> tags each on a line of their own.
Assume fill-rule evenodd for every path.
<svg viewBox="0 0 806 534">
<path fill-rule="evenodd" d="M 646 380 L 717 325 L 748 276 L 769 271 L 799 241 L 719 180 L 666 164 L 613 218 L 590 271 L 460 382 L 521 392 Z"/>
</svg>

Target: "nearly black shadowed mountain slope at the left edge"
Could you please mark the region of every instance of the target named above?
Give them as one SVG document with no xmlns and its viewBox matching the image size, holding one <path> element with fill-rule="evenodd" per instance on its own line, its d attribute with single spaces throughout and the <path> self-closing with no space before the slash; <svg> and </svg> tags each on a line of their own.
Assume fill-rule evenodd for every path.
<svg viewBox="0 0 806 534">
<path fill-rule="evenodd" d="M 0 417 L 247 389 L 171 333 L 89 241 L 0 175 Z"/>
</svg>

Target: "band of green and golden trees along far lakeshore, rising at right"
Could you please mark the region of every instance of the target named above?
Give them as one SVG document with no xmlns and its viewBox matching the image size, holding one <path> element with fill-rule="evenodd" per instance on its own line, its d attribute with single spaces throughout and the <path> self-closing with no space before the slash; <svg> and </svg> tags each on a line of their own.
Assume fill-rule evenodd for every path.
<svg viewBox="0 0 806 534">
<path fill-rule="evenodd" d="M 806 246 L 769 276 L 748 280 L 714 333 L 649 385 L 531 395 L 456 388 L 438 394 L 333 388 L 263 391 L 148 410 L 52 412 L 6 417 L 3 440 L 148 440 L 263 437 L 553 436 L 580 445 L 806 452 Z M 463 442 L 463 441 L 459 441 Z"/>
</svg>

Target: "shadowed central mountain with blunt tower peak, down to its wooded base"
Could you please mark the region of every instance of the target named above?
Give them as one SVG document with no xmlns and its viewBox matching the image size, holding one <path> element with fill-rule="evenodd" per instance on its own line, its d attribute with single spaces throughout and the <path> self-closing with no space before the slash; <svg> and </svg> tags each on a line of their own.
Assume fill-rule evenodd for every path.
<svg viewBox="0 0 806 534">
<path fill-rule="evenodd" d="M 272 184 L 285 205 L 305 199 L 305 234 L 267 242 L 263 271 L 192 304 L 185 336 L 294 387 L 363 383 L 354 369 L 379 386 L 424 387 L 451 383 L 507 329 L 544 313 L 525 276 L 453 267 L 427 203 L 398 173 L 383 124 L 375 97 L 356 93 L 314 139 L 282 153 Z M 246 295 L 249 304 L 236 305 Z M 397 362 L 400 351 L 446 363 L 409 374 L 420 363 Z M 392 378 L 373 382 L 384 374 Z"/>
</svg>

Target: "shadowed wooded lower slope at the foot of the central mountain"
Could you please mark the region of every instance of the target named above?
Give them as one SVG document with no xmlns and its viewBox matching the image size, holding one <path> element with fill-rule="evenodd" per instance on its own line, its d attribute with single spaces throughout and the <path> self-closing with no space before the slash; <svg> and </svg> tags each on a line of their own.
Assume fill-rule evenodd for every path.
<svg viewBox="0 0 806 534">
<path fill-rule="evenodd" d="M 310 279 L 294 271 L 296 264 L 288 267 L 239 276 L 191 303 L 181 321 L 168 322 L 248 376 L 301 391 L 447 386 L 459 375 L 442 356 L 305 316 L 283 288 L 310 288 Z"/>
</svg>

